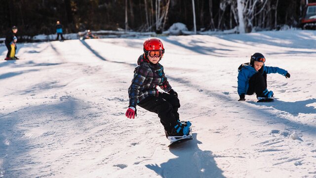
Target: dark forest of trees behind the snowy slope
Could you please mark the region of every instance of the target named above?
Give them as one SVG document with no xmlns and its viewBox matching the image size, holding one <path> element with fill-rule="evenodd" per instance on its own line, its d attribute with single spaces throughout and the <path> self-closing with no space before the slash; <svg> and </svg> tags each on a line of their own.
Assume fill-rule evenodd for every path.
<svg viewBox="0 0 316 178">
<path fill-rule="evenodd" d="M 56 33 L 59 20 L 64 33 L 91 30 L 157 32 L 181 22 L 197 31 L 218 31 L 238 26 L 239 0 L 0 0 L 0 33 L 11 26 L 18 35 Z M 307 0 L 240 0 L 245 32 L 299 26 Z"/>
</svg>

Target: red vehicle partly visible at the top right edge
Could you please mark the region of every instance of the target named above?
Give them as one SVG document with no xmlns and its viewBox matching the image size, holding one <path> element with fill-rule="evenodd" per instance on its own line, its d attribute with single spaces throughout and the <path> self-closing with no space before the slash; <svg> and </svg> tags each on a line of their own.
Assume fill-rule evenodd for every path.
<svg viewBox="0 0 316 178">
<path fill-rule="evenodd" d="M 301 19 L 303 29 L 316 30 L 316 3 L 308 3 L 303 18 Z"/>
</svg>

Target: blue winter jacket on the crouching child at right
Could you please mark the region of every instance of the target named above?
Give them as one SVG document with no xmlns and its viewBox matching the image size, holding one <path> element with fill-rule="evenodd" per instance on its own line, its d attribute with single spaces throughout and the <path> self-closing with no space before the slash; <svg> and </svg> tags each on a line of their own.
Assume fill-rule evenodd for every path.
<svg viewBox="0 0 316 178">
<path fill-rule="evenodd" d="M 263 73 L 266 72 L 267 74 L 271 74 L 271 73 L 278 73 L 281 74 L 283 76 L 285 76 L 285 74 L 287 73 L 286 70 L 278 68 L 278 67 L 269 67 L 269 66 L 265 66 L 263 64 Z M 257 73 L 257 71 L 255 70 L 255 68 L 251 67 L 250 65 L 244 65 L 240 71 L 238 72 L 238 94 L 246 94 L 248 87 L 249 87 L 249 80 L 250 78 Z"/>
</svg>

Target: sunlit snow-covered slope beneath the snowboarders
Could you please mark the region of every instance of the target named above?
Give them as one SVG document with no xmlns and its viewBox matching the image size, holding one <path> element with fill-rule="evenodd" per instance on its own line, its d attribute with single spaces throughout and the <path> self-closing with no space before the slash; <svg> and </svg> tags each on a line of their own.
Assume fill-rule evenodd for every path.
<svg viewBox="0 0 316 178">
<path fill-rule="evenodd" d="M 194 140 L 168 148 L 158 116 L 124 116 L 146 38 L 18 44 L 0 61 L 0 177 L 316 178 L 316 33 L 161 37 L 160 61 Z M 238 102 L 262 52 L 276 100 Z M 0 46 L 4 59 L 5 46 Z"/>
</svg>

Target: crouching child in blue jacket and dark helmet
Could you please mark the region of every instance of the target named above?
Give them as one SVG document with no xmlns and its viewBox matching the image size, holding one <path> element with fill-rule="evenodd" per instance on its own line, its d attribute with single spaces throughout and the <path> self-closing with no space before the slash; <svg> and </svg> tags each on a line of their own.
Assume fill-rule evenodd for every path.
<svg viewBox="0 0 316 178">
<path fill-rule="evenodd" d="M 267 99 L 273 97 L 273 91 L 267 89 L 267 74 L 278 73 L 285 78 L 290 78 L 290 74 L 278 67 L 265 66 L 266 58 L 263 54 L 256 52 L 250 58 L 250 63 L 241 64 L 238 68 L 238 94 L 239 100 L 245 100 L 245 94 L 256 93 L 257 99 Z"/>
</svg>

